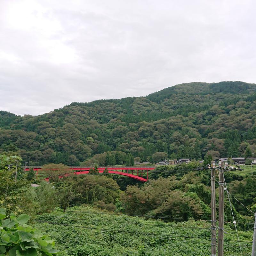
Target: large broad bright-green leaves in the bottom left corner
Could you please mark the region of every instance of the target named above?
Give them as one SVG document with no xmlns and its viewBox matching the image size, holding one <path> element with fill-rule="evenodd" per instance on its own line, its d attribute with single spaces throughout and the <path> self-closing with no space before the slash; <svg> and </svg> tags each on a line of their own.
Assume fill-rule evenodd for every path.
<svg viewBox="0 0 256 256">
<path fill-rule="evenodd" d="M 26 225 L 29 219 L 30 216 L 27 214 L 20 214 L 17 217 L 13 212 L 10 218 L 6 219 L 5 209 L 0 208 L 0 255 L 36 256 L 37 252 L 42 256 L 60 254 L 54 247 L 54 240 Z"/>
</svg>

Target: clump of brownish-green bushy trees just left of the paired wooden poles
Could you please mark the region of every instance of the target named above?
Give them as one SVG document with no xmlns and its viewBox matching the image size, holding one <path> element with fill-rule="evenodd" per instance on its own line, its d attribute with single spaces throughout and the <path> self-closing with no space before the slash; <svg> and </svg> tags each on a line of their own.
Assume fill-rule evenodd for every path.
<svg viewBox="0 0 256 256">
<path fill-rule="evenodd" d="M 209 218 L 211 190 L 193 172 L 149 180 L 143 187 L 128 186 L 120 201 L 125 212 L 172 218 Z"/>
</svg>

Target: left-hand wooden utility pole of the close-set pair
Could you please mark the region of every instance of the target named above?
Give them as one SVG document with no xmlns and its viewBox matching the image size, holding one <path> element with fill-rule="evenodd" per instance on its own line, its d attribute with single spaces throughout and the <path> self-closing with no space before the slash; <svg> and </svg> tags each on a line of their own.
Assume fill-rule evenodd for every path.
<svg viewBox="0 0 256 256">
<path fill-rule="evenodd" d="M 212 226 L 211 226 L 211 245 L 212 256 L 216 256 L 216 194 L 215 194 L 215 162 L 211 161 L 211 209 L 212 209 Z"/>
</svg>

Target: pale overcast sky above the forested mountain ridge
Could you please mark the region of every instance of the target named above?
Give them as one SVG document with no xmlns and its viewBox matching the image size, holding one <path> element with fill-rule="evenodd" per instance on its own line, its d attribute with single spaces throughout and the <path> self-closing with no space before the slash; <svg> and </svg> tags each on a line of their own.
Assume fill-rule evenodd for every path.
<svg viewBox="0 0 256 256">
<path fill-rule="evenodd" d="M 256 83 L 256 2 L 0 0 L 0 110 Z"/>
</svg>

